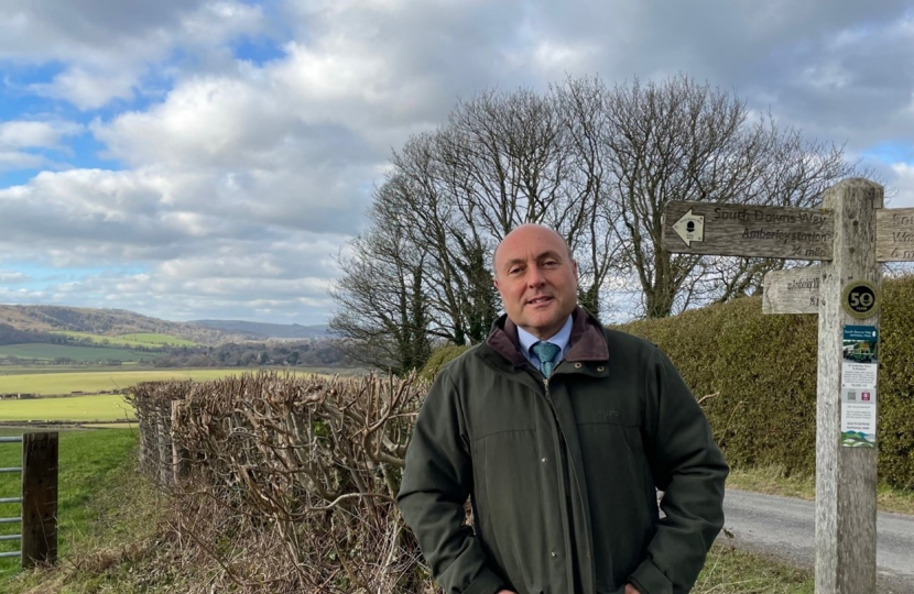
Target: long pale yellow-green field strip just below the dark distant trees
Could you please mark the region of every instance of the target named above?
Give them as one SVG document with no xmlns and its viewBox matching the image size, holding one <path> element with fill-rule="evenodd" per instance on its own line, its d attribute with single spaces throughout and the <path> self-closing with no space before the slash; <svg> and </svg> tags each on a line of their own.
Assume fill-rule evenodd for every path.
<svg viewBox="0 0 914 594">
<path fill-rule="evenodd" d="M 0 375 L 0 394 L 25 393 L 52 395 L 70 394 L 73 392 L 97 394 L 99 392 L 126 388 L 140 382 L 165 382 L 168 380 L 194 380 L 196 382 L 206 382 L 226 377 L 228 375 L 241 375 L 242 373 L 252 371 L 255 370 L 232 367 Z M 307 374 L 308 372 L 304 370 L 295 370 L 295 373 Z"/>
</svg>

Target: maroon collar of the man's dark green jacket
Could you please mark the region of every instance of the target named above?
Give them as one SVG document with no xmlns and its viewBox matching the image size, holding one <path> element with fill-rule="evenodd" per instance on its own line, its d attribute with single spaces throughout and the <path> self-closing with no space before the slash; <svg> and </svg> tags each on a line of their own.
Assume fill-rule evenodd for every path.
<svg viewBox="0 0 914 594">
<path fill-rule="evenodd" d="M 507 315 L 492 324 L 486 343 L 515 367 L 527 364 L 518 340 L 518 327 Z M 565 354 L 566 361 L 609 361 L 609 349 L 600 322 L 580 306 L 572 312 L 570 345 Z"/>
</svg>

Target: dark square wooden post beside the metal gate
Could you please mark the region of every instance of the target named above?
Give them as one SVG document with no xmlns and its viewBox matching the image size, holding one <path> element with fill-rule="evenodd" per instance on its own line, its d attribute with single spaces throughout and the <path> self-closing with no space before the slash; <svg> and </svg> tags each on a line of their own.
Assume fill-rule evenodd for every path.
<svg viewBox="0 0 914 594">
<path fill-rule="evenodd" d="M 22 436 L 22 568 L 57 562 L 57 433 Z"/>
</svg>

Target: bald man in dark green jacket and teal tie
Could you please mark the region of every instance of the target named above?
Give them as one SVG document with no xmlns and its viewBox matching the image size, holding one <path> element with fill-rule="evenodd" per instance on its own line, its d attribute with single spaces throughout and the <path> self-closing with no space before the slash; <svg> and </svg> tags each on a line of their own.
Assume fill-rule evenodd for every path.
<svg viewBox="0 0 914 594">
<path fill-rule="evenodd" d="M 448 594 L 688 592 L 728 472 L 694 396 L 654 344 L 577 307 L 554 231 L 515 229 L 494 267 L 505 316 L 438 374 L 398 495 L 436 580 Z"/>
</svg>

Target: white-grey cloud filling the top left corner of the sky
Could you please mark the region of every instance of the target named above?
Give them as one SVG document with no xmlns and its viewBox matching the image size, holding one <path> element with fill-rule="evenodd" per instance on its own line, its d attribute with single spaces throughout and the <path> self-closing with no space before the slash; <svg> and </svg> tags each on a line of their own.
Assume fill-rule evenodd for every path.
<svg viewBox="0 0 914 594">
<path fill-rule="evenodd" d="M 213 61 L 263 28 L 262 9 L 230 0 L 10 0 L 0 7 L 0 61 L 59 64 L 51 80 L 29 88 L 90 110 L 133 99 L 150 67 L 174 68 L 175 52 Z"/>
</svg>

